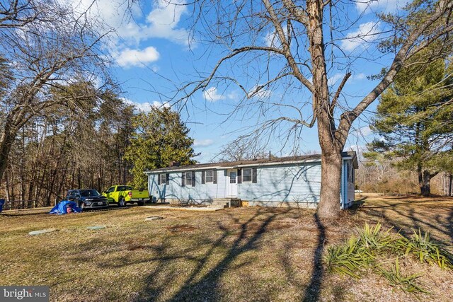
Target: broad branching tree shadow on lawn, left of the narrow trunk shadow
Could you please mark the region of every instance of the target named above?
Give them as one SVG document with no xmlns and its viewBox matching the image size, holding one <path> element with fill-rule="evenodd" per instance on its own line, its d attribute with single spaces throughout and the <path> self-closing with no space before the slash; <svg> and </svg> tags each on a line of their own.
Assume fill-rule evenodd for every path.
<svg viewBox="0 0 453 302">
<path fill-rule="evenodd" d="M 178 291 L 171 295 L 170 298 L 166 298 L 166 301 L 219 301 L 222 296 L 220 290 L 220 280 L 224 275 L 224 272 L 232 265 L 232 262 L 236 260 L 244 252 L 255 250 L 259 248 L 259 240 L 267 231 L 268 226 L 274 221 L 277 216 L 285 214 L 286 211 L 269 211 L 268 209 L 258 209 L 250 219 L 241 223 L 240 219 L 229 215 L 235 225 L 238 225 L 237 231 L 231 232 L 231 228 L 224 226 L 220 221 L 212 221 L 217 223 L 217 229 L 222 233 L 221 235 L 213 240 L 212 242 L 206 242 L 204 246 L 209 245 L 206 252 L 195 260 L 195 266 L 190 269 L 190 274 L 185 278 Z M 231 242 L 231 238 L 234 238 Z M 223 255 L 220 260 L 214 257 L 214 254 L 218 256 L 218 248 L 226 248 L 226 255 Z M 197 247 L 194 247 L 195 249 Z M 202 248 L 202 247 L 200 247 Z M 185 255 L 188 255 L 185 252 Z M 215 261 L 213 267 L 209 267 L 210 262 Z M 168 275 L 166 270 L 166 261 L 159 261 L 156 268 L 150 272 L 147 279 L 147 286 L 144 292 L 140 294 L 135 301 L 155 301 L 161 300 L 162 293 L 166 290 L 164 284 L 168 286 L 176 286 L 175 282 L 171 282 L 172 277 Z M 237 268 L 237 266 L 235 266 Z M 206 273 L 204 273 L 206 271 Z M 159 284 L 154 283 L 153 279 L 157 275 L 165 275 L 165 279 L 168 280 L 166 283 L 163 280 L 159 280 Z M 168 289 L 167 289 L 168 290 Z"/>
</svg>

